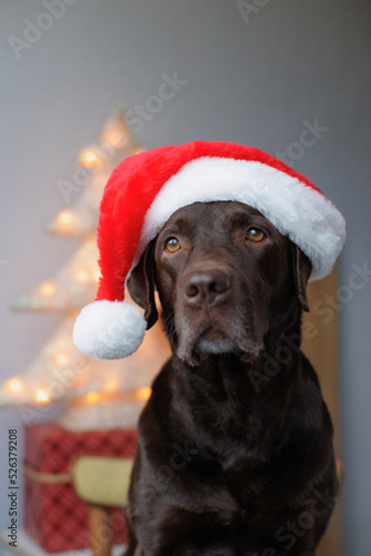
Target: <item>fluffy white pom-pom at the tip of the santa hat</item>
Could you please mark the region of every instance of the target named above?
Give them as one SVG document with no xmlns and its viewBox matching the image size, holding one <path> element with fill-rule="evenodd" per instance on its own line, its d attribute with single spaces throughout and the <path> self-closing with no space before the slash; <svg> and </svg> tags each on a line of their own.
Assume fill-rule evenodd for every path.
<svg viewBox="0 0 371 556">
<path fill-rule="evenodd" d="M 73 327 L 73 342 L 81 351 L 102 359 L 121 359 L 143 341 L 147 321 L 138 307 L 127 301 L 87 305 Z"/>
</svg>

